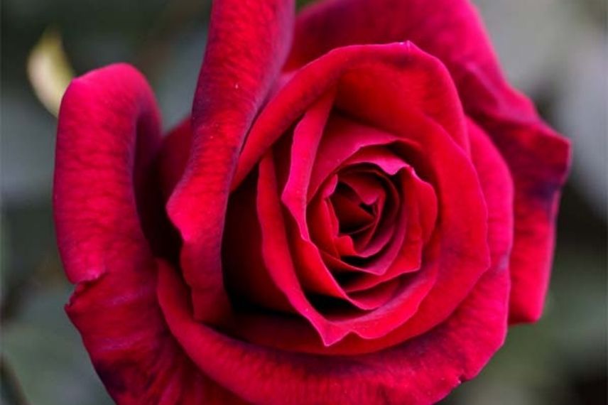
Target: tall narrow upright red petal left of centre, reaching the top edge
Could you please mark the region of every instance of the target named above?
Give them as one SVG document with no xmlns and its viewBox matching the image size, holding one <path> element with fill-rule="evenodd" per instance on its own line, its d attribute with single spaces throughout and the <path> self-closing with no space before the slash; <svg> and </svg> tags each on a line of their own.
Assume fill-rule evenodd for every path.
<svg viewBox="0 0 608 405">
<path fill-rule="evenodd" d="M 192 149 L 168 212 L 183 239 L 181 265 L 197 319 L 224 318 L 222 230 L 229 185 L 251 121 L 291 43 L 291 0 L 215 1 L 192 107 Z"/>
</svg>

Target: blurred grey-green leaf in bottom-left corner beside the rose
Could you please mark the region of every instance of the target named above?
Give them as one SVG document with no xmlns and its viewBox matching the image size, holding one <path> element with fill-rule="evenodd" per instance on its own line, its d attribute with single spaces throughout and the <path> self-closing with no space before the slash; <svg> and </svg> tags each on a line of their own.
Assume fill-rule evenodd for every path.
<svg viewBox="0 0 608 405">
<path fill-rule="evenodd" d="M 67 282 L 44 287 L 28 291 L 18 318 L 2 330 L 1 355 L 11 365 L 26 401 L 112 404 L 63 311 L 72 287 Z"/>
</svg>

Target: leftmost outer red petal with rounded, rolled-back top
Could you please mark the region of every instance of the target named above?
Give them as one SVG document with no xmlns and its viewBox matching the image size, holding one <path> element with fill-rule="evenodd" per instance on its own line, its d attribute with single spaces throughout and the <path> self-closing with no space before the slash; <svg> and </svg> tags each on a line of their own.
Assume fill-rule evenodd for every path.
<svg viewBox="0 0 608 405">
<path fill-rule="evenodd" d="M 53 191 L 61 257 L 79 283 L 66 311 L 118 404 L 225 404 L 232 395 L 192 365 L 158 308 L 136 197 L 149 197 L 139 185 L 159 142 L 156 102 L 134 68 L 94 70 L 68 88 Z"/>
</svg>

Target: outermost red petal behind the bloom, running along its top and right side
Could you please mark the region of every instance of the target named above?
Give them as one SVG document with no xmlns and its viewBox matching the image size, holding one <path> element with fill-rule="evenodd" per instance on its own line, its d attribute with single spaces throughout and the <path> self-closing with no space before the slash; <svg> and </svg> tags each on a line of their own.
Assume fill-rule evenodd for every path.
<svg viewBox="0 0 608 405">
<path fill-rule="evenodd" d="M 516 190 L 510 317 L 536 320 L 548 285 L 570 146 L 506 83 L 469 1 L 321 1 L 298 16 L 286 69 L 344 45 L 406 40 L 445 63 L 465 111 L 492 136 L 509 166 Z"/>
</svg>

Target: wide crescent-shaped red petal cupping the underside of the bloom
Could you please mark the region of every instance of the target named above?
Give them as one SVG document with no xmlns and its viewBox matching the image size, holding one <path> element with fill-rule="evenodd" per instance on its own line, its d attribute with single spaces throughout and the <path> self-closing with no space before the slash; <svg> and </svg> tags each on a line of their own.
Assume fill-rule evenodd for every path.
<svg viewBox="0 0 608 405">
<path fill-rule="evenodd" d="M 369 355 L 320 357 L 251 345 L 196 322 L 183 282 L 168 266 L 160 269 L 161 308 L 184 350 L 202 372 L 253 403 L 434 403 L 475 377 L 506 333 L 506 271 L 484 274 L 460 308 L 425 335 Z"/>
</svg>

